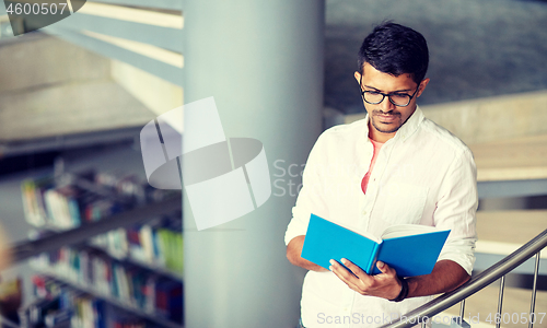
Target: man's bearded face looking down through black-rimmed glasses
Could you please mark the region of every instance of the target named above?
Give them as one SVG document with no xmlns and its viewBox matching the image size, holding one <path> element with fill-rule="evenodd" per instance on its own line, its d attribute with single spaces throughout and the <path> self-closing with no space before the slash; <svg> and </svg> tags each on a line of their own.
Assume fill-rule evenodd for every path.
<svg viewBox="0 0 547 328">
<path fill-rule="evenodd" d="M 407 119 L 416 110 L 416 98 L 421 95 L 429 79 L 423 80 L 419 85 L 412 80 L 410 74 L 400 74 L 394 77 L 383 73 L 372 67 L 370 63 L 364 63 L 363 75 L 356 72 L 357 82 L 361 80 L 362 91 L 381 92 L 384 94 L 408 94 L 416 95 L 410 99 L 410 103 L 405 107 L 399 107 L 392 102 L 388 97 L 384 97 L 382 103 L 372 105 L 363 101 L 364 108 L 369 113 L 370 122 L 372 124 L 371 138 L 380 137 L 377 141 L 386 141 L 395 136 L 395 132 L 407 121 Z M 417 90 L 418 89 L 418 90 Z M 377 138 L 373 138 L 377 139 Z"/>
</svg>

